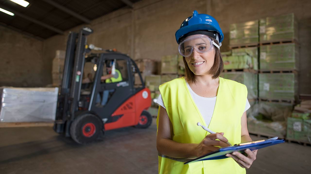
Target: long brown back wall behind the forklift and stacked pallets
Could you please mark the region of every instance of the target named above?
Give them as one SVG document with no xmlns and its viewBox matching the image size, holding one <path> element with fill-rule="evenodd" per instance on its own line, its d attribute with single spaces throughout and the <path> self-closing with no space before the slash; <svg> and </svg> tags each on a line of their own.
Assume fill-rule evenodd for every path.
<svg viewBox="0 0 311 174">
<path fill-rule="evenodd" d="M 308 0 L 142 0 L 134 9 L 124 8 L 105 15 L 87 25 L 94 29 L 88 43 L 104 48 L 116 48 L 128 53 L 133 59 L 155 59 L 177 54 L 174 33 L 181 22 L 192 14 L 213 15 L 220 24 L 225 40 L 222 51 L 229 50 L 229 25 L 231 23 L 255 20 L 261 17 L 294 12 L 299 21 L 300 85 L 299 93 L 311 94 L 311 1 Z M 78 31 L 81 26 L 73 28 Z M 54 36 L 44 41 L 45 65 L 52 63 L 54 52 L 65 49 L 67 35 Z M 46 67 L 44 75 L 51 72 Z M 51 83 L 51 79 L 46 81 Z"/>
</svg>

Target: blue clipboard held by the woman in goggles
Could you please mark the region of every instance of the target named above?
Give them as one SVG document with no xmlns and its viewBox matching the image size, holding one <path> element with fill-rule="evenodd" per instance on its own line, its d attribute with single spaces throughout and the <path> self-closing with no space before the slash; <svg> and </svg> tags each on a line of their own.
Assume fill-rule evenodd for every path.
<svg viewBox="0 0 311 174">
<path fill-rule="evenodd" d="M 194 163 L 198 161 L 205 161 L 205 160 L 213 160 L 213 159 L 225 159 L 229 158 L 225 156 L 226 154 L 230 154 L 232 152 L 238 151 L 240 153 L 244 153 L 244 150 L 250 149 L 250 150 L 256 150 L 261 149 L 268 146 L 273 146 L 276 144 L 284 143 L 285 140 L 278 140 L 277 137 L 268 139 L 268 140 L 257 140 L 250 143 L 241 143 L 239 145 L 229 146 L 229 147 L 223 147 L 218 150 L 212 151 L 208 154 L 205 154 L 203 156 L 200 156 L 195 159 L 190 159 L 184 164 Z"/>
</svg>

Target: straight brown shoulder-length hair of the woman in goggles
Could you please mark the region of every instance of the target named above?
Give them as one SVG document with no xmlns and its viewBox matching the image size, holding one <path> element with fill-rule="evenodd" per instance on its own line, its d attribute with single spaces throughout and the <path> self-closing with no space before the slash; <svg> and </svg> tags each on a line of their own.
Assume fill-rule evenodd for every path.
<svg viewBox="0 0 311 174">
<path fill-rule="evenodd" d="M 214 41 L 217 45 L 219 45 L 219 42 L 210 37 L 212 39 L 212 41 Z M 213 45 L 214 46 L 214 45 Z M 212 78 L 213 79 L 216 79 L 217 77 L 220 76 L 221 72 L 224 70 L 224 62 L 222 60 L 222 57 L 221 57 L 221 53 L 220 53 L 220 50 L 214 46 L 214 50 L 215 50 L 215 58 L 214 58 L 214 64 L 213 66 L 211 67 L 210 71 L 208 72 L 208 74 L 211 74 L 213 75 Z M 186 62 L 186 59 L 185 57 L 183 57 L 183 63 L 185 64 L 185 79 L 188 81 L 188 82 L 193 82 L 193 83 L 196 83 L 196 80 L 195 80 L 195 74 L 190 70 L 190 68 L 188 67 L 188 63 Z"/>
</svg>

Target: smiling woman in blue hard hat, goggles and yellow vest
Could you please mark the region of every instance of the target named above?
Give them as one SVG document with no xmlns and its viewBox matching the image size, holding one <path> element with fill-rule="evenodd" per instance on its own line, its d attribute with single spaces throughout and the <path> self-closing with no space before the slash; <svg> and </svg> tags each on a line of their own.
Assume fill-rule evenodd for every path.
<svg viewBox="0 0 311 174">
<path fill-rule="evenodd" d="M 247 156 L 234 152 L 226 159 L 183 164 L 183 158 L 202 156 L 229 146 L 227 142 L 251 141 L 246 121 L 250 106 L 245 85 L 219 77 L 224 36 L 212 16 L 193 11 L 175 37 L 186 76 L 159 87 L 159 173 L 245 173 L 256 159 L 257 150 L 246 150 Z M 197 122 L 217 133 L 206 132 Z"/>
</svg>

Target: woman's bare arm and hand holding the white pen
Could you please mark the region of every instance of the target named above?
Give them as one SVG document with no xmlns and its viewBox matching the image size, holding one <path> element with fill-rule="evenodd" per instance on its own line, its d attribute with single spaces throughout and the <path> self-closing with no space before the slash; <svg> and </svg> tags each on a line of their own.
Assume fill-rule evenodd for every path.
<svg viewBox="0 0 311 174">
<path fill-rule="evenodd" d="M 164 107 L 160 107 L 158 133 L 156 139 L 156 146 L 160 154 L 174 158 L 189 158 L 194 156 L 201 156 L 213 150 L 217 150 L 221 146 L 226 147 L 228 140 L 223 137 L 223 133 L 215 133 L 207 135 L 200 144 L 178 143 L 172 140 L 173 125 L 169 120 Z M 217 141 L 219 139 L 221 141 Z"/>
</svg>

